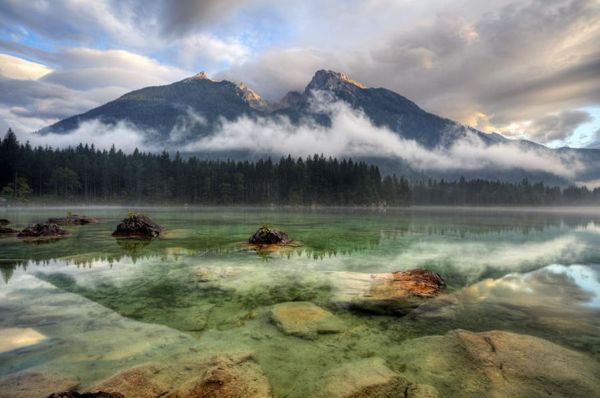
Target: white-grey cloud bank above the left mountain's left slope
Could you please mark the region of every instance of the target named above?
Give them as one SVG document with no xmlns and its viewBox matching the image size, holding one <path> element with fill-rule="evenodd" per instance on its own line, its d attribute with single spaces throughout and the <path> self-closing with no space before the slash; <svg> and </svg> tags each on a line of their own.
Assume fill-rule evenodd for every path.
<svg viewBox="0 0 600 398">
<path fill-rule="evenodd" d="M 62 67 L 48 69 L 37 80 L 0 76 L 0 118 L 4 125 L 24 131 L 38 130 L 60 119 L 85 112 L 126 92 L 167 84 L 190 75 L 183 69 L 123 50 L 70 48 L 43 54 Z M 0 54 L 0 68 L 1 58 Z M 28 61 L 10 56 L 12 65 Z M 44 70 L 44 65 L 36 67 Z M 21 75 L 23 76 L 23 75 Z"/>
</svg>

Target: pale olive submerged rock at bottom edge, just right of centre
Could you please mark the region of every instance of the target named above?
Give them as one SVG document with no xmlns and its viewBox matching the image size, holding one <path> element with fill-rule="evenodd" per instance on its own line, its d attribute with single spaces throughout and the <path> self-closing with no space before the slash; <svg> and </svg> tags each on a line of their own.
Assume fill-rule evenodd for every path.
<svg viewBox="0 0 600 398">
<path fill-rule="evenodd" d="M 410 383 L 381 358 L 345 363 L 327 372 L 318 398 L 404 397 Z"/>
</svg>

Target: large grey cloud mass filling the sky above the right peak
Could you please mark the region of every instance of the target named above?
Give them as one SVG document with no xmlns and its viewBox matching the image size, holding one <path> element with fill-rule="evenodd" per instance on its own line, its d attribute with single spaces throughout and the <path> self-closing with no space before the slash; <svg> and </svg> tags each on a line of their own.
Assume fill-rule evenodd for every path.
<svg viewBox="0 0 600 398">
<path fill-rule="evenodd" d="M 597 1 L 382 1 L 344 11 L 332 3 L 339 6 L 306 11 L 314 20 L 299 17 L 305 28 L 290 21 L 303 35 L 293 46 L 270 48 L 223 76 L 273 99 L 301 89 L 316 69 L 341 70 L 476 128 L 542 141 L 522 127 L 600 103 Z"/>
</svg>

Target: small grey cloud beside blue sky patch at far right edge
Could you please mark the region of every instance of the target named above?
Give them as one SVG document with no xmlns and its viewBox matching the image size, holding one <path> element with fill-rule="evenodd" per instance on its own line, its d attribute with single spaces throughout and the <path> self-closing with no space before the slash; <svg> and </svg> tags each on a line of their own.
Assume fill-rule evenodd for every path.
<svg viewBox="0 0 600 398">
<path fill-rule="evenodd" d="M 530 131 L 545 142 L 559 140 L 567 138 L 577 127 L 592 120 L 594 118 L 588 112 L 564 111 L 535 120 L 530 126 Z"/>
</svg>

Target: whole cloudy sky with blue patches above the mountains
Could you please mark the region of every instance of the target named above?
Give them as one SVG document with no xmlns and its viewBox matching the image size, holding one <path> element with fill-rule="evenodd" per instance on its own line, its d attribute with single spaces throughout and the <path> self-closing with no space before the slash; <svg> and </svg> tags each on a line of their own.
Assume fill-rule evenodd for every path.
<svg viewBox="0 0 600 398">
<path fill-rule="evenodd" d="M 0 0 L 0 129 L 199 71 L 268 100 L 318 69 L 485 132 L 600 145 L 600 0 Z"/>
</svg>

